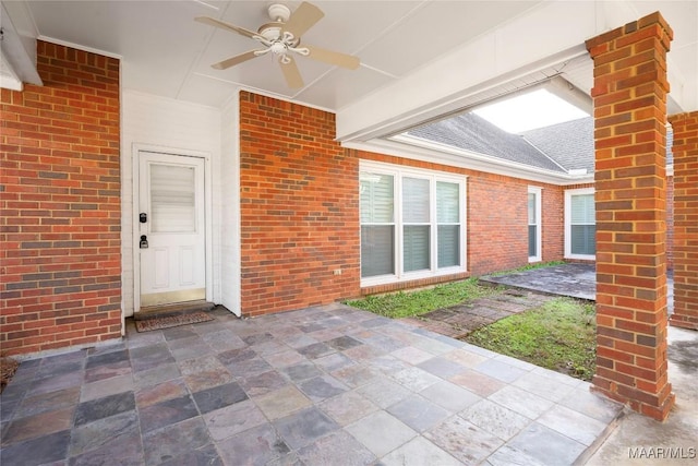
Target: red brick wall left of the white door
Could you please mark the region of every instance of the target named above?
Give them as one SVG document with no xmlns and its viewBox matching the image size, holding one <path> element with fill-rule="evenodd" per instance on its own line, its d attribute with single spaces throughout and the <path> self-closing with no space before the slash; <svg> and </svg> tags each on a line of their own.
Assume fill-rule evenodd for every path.
<svg viewBox="0 0 698 466">
<path fill-rule="evenodd" d="M 2 89 L 0 347 L 121 334 L 119 61 L 38 41 L 44 86 Z"/>
</svg>

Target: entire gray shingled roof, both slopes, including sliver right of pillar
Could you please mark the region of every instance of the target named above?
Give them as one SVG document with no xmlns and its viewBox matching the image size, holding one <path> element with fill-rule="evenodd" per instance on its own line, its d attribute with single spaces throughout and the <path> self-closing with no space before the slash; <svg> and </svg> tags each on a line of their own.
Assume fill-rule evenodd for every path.
<svg viewBox="0 0 698 466">
<path fill-rule="evenodd" d="M 593 118 L 580 118 L 518 134 L 508 133 L 474 113 L 425 124 L 408 131 L 422 138 L 483 155 L 537 168 L 593 174 Z M 673 132 L 666 131 L 666 164 L 673 163 Z"/>
</svg>

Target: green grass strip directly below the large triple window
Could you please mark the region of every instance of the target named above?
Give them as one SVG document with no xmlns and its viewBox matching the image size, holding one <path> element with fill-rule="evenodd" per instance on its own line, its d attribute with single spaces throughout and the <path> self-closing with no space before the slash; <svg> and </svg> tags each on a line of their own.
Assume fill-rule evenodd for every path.
<svg viewBox="0 0 698 466">
<path fill-rule="evenodd" d="M 368 296 L 348 301 L 347 304 L 386 318 L 400 319 L 425 314 L 495 292 L 498 292 L 497 288 L 478 285 L 477 278 L 468 278 L 417 291 Z"/>
</svg>

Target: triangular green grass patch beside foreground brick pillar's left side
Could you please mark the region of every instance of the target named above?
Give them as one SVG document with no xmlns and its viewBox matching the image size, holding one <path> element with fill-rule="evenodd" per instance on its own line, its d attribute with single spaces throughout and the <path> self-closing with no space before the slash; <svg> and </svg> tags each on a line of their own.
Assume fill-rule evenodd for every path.
<svg viewBox="0 0 698 466">
<path fill-rule="evenodd" d="M 595 371 L 594 304 L 557 298 L 479 328 L 464 339 L 582 380 Z"/>
</svg>

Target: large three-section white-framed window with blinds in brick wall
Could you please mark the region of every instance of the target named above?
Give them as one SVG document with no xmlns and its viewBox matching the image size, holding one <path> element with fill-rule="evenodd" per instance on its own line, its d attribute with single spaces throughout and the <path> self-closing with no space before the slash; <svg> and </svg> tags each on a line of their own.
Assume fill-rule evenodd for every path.
<svg viewBox="0 0 698 466">
<path fill-rule="evenodd" d="M 465 271 L 465 177 L 361 162 L 362 285 Z"/>
</svg>

